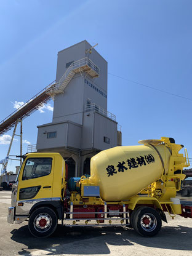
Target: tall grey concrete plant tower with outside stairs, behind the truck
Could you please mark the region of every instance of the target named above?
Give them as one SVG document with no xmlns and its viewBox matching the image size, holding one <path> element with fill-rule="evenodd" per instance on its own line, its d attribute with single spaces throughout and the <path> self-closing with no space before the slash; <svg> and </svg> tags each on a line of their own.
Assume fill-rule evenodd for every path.
<svg viewBox="0 0 192 256">
<path fill-rule="evenodd" d="M 58 152 L 68 178 L 89 174 L 90 158 L 121 145 L 116 116 L 107 110 L 107 62 L 87 41 L 58 52 L 52 122 L 38 126 L 38 152 Z"/>
</svg>

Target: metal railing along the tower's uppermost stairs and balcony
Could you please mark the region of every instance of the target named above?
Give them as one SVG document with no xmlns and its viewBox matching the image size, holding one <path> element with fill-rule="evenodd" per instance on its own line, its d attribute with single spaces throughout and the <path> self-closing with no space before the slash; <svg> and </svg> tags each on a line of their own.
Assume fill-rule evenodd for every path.
<svg viewBox="0 0 192 256">
<path fill-rule="evenodd" d="M 81 68 L 82 66 L 89 66 L 92 70 L 94 70 L 98 75 L 100 74 L 100 69 L 97 65 L 92 62 L 89 58 L 81 58 L 81 60 L 77 60 L 76 62 L 71 63 L 71 65 L 68 67 L 68 69 L 63 74 L 62 78 L 58 82 L 58 87 L 60 87 L 63 83 L 63 81 L 67 78 L 67 76 L 70 74 L 71 71 L 76 70 L 77 68 Z"/>
</svg>

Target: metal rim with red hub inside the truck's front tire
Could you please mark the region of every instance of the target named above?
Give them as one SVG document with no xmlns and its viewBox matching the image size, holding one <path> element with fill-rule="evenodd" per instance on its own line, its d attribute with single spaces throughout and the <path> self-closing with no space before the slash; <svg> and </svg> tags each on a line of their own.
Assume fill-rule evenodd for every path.
<svg viewBox="0 0 192 256">
<path fill-rule="evenodd" d="M 49 214 L 39 214 L 33 222 L 34 228 L 38 232 L 46 232 L 52 225 L 52 218 Z"/>
</svg>

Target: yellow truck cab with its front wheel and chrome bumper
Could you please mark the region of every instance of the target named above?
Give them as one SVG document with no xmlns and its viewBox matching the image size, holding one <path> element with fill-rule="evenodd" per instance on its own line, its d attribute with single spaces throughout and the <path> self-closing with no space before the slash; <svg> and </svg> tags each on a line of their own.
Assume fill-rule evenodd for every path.
<svg viewBox="0 0 192 256">
<path fill-rule="evenodd" d="M 22 223 L 30 216 L 31 233 L 35 235 L 40 231 L 43 236 L 47 230 L 49 235 L 53 233 L 57 220 L 63 216 L 65 175 L 65 161 L 58 153 L 23 156 L 23 164 L 12 188 L 8 222 Z"/>
</svg>

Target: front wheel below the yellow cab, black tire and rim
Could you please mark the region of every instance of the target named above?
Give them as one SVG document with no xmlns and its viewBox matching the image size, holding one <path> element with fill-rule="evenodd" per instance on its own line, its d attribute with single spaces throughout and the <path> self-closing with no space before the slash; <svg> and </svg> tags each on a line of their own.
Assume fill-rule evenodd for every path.
<svg viewBox="0 0 192 256">
<path fill-rule="evenodd" d="M 30 216 L 28 228 L 36 238 L 47 238 L 57 228 L 57 215 L 49 207 L 34 210 Z"/>
</svg>

